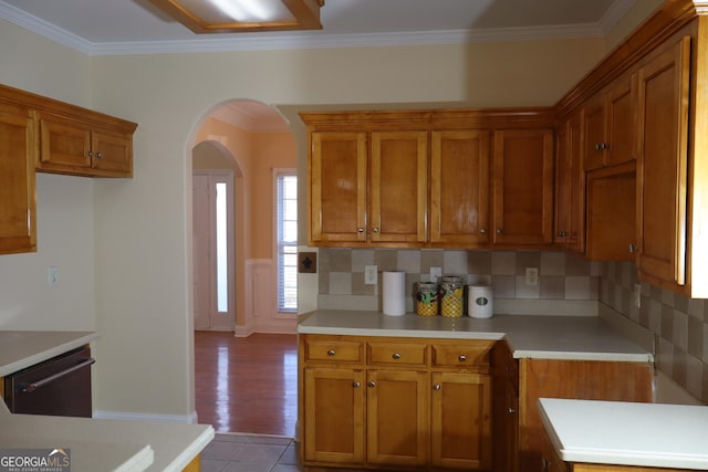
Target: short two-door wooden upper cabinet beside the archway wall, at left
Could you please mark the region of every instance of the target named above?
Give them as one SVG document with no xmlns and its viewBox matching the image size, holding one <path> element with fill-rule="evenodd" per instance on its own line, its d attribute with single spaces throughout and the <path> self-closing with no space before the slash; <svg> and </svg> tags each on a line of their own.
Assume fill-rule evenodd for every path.
<svg viewBox="0 0 708 472">
<path fill-rule="evenodd" d="M 40 115 L 38 170 L 96 177 L 131 177 L 132 132 L 52 114 Z"/>
</svg>

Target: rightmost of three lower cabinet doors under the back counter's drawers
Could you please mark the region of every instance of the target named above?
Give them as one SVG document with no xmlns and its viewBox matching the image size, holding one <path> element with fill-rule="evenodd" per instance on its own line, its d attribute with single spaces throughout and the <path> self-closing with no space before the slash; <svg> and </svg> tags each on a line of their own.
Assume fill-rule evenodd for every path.
<svg viewBox="0 0 708 472">
<path fill-rule="evenodd" d="M 491 376 L 431 373 L 430 463 L 490 470 Z"/>
</svg>

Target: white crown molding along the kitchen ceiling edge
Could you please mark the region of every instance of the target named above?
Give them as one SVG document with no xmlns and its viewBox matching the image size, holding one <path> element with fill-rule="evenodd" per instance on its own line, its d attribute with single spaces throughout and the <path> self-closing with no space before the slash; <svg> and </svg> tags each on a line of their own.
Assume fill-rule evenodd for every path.
<svg viewBox="0 0 708 472">
<path fill-rule="evenodd" d="M 239 38 L 199 38 L 180 41 L 92 43 L 46 21 L 0 3 L 0 18 L 88 55 L 274 51 L 303 49 L 369 48 L 426 44 L 466 44 L 600 38 L 606 34 L 635 0 L 617 0 L 598 23 L 485 30 L 417 31 L 366 34 L 327 34 L 322 31 L 244 34 Z"/>
</svg>

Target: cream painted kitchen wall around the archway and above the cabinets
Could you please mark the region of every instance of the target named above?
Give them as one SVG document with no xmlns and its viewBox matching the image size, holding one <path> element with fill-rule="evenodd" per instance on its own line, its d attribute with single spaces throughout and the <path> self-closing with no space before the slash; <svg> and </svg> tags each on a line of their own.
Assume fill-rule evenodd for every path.
<svg viewBox="0 0 708 472">
<path fill-rule="evenodd" d="M 602 40 L 573 40 L 87 59 L 0 22 L 0 82 L 138 123 L 133 179 L 39 179 L 38 195 L 56 200 L 58 211 L 77 195 L 92 200 L 93 208 L 77 210 L 75 219 L 80 227 L 93 225 L 93 248 L 90 237 L 80 235 L 76 244 L 72 224 L 50 218 L 39 201 L 38 224 L 50 230 L 40 230 L 39 245 L 51 253 L 41 252 L 39 262 L 32 254 L 0 258 L 0 319 L 19 303 L 8 303 L 6 294 L 18 292 L 28 313 L 22 325 L 43 328 L 48 304 L 41 300 L 51 292 L 37 282 L 44 280 L 37 268 L 53 264 L 63 248 L 92 248 L 93 255 L 85 252 L 93 273 L 73 256 L 58 265 L 81 272 L 77 284 L 92 279 L 94 285 L 75 289 L 82 296 L 65 297 L 54 308 L 69 323 L 74 312 L 91 312 L 86 305 L 95 297 L 95 408 L 187 419 L 194 413 L 189 149 L 211 107 L 251 98 L 288 108 L 302 170 L 305 139 L 294 122 L 298 109 L 552 105 L 603 48 Z M 37 61 L 25 65 L 27 57 Z M 316 291 L 316 284 L 305 290 Z M 301 300 L 312 301 L 313 294 Z M 71 322 L 79 325 L 93 327 Z"/>
</svg>

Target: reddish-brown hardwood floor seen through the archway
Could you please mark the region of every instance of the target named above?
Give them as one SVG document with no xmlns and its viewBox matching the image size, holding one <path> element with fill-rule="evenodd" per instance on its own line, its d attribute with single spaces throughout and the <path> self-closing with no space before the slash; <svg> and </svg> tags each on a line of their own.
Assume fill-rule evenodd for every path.
<svg viewBox="0 0 708 472">
<path fill-rule="evenodd" d="M 217 432 L 294 437 L 296 336 L 195 332 L 195 397 L 199 422 Z"/>
</svg>

